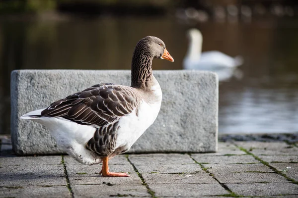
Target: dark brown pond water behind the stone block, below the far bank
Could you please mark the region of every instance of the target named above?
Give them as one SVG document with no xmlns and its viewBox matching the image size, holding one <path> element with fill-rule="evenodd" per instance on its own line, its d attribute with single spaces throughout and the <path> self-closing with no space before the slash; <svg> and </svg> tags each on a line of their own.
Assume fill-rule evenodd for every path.
<svg viewBox="0 0 298 198">
<path fill-rule="evenodd" d="M 0 20 L 0 133 L 9 133 L 9 76 L 13 69 L 130 69 L 136 43 L 161 38 L 182 69 L 185 32 L 199 28 L 203 51 L 241 54 L 242 79 L 220 84 L 220 133 L 298 131 L 298 20 L 187 25 L 175 18 Z M 101 80 L 98 79 L 98 82 Z"/>
</svg>

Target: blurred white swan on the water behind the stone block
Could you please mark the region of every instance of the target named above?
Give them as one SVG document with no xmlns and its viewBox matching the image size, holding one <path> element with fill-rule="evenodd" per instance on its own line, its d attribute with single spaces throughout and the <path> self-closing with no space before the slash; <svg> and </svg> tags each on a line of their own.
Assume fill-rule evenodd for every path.
<svg viewBox="0 0 298 198">
<path fill-rule="evenodd" d="M 218 73 L 219 80 L 233 75 L 236 67 L 243 64 L 241 56 L 231 57 L 220 51 L 202 52 L 203 36 L 198 29 L 187 32 L 189 47 L 183 59 L 184 69 L 200 69 Z"/>
</svg>

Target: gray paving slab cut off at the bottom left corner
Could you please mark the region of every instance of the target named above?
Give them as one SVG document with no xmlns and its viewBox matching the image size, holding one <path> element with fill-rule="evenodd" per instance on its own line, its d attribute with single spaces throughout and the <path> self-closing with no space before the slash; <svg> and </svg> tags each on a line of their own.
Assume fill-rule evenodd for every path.
<svg viewBox="0 0 298 198">
<path fill-rule="evenodd" d="M 1 198 L 71 198 L 66 186 L 0 187 Z"/>
</svg>

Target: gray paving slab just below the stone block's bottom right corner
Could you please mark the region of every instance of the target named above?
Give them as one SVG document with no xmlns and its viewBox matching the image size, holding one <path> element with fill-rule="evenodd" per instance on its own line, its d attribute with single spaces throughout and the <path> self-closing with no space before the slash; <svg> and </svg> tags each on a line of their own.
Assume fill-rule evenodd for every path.
<svg viewBox="0 0 298 198">
<path fill-rule="evenodd" d="M 210 154 L 192 154 L 199 163 L 209 164 L 229 164 L 229 163 L 259 163 L 251 155 L 210 155 Z"/>
</svg>

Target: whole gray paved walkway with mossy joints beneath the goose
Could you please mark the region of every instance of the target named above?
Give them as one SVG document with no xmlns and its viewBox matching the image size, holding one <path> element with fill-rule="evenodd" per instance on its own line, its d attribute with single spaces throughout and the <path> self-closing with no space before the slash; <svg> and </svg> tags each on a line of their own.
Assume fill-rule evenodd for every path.
<svg viewBox="0 0 298 198">
<path fill-rule="evenodd" d="M 110 170 L 130 178 L 101 177 L 100 169 L 66 155 L 18 157 L 2 137 L 0 198 L 298 197 L 298 146 L 286 142 L 220 142 L 217 153 L 113 158 Z"/>
</svg>

